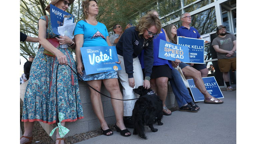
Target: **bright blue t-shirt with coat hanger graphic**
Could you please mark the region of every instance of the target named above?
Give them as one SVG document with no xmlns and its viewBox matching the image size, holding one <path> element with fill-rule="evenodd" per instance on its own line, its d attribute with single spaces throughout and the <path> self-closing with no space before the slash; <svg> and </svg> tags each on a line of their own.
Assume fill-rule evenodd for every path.
<svg viewBox="0 0 256 144">
<path fill-rule="evenodd" d="M 76 24 L 74 35 L 83 34 L 84 44 L 83 47 L 93 47 L 93 46 L 108 46 L 106 37 L 108 35 L 108 30 L 106 26 L 100 22 L 93 26 L 81 20 Z"/>
</svg>

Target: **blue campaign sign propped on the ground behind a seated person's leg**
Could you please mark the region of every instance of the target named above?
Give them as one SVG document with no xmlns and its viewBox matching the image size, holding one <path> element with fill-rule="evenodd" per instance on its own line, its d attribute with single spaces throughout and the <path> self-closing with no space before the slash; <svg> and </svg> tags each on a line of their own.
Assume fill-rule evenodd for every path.
<svg viewBox="0 0 256 144">
<path fill-rule="evenodd" d="M 212 77 L 204 77 L 202 78 L 204 81 L 204 86 L 207 90 L 207 92 L 215 97 L 215 98 L 224 98 L 218 83 L 216 82 L 216 79 L 214 76 Z M 204 95 L 199 91 L 199 89 L 195 86 L 194 80 L 193 79 L 188 79 L 187 80 L 189 83 L 189 88 L 192 93 L 192 96 L 194 98 L 195 102 L 198 101 L 203 101 L 204 100 Z"/>
</svg>

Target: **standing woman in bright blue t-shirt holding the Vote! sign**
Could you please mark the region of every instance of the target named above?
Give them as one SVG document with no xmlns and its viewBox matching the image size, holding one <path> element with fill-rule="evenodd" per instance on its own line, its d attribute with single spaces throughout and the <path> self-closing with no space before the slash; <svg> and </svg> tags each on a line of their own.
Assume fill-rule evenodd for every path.
<svg viewBox="0 0 256 144">
<path fill-rule="evenodd" d="M 77 72 L 96 90 L 100 91 L 101 82 L 103 81 L 106 89 L 109 91 L 112 98 L 123 99 L 119 88 L 118 75 L 116 71 L 103 72 L 86 75 L 84 64 L 81 57 L 81 47 L 92 46 L 112 46 L 109 41 L 107 28 L 104 24 L 96 20 L 99 9 L 96 0 L 86 0 L 82 2 L 83 14 L 85 20 L 77 23 L 74 31 L 76 39 L 76 56 L 77 56 Z M 120 64 L 120 62 L 116 62 Z M 85 65 L 86 66 L 86 65 Z M 107 122 L 104 119 L 103 106 L 101 102 L 101 95 L 90 88 L 90 97 L 94 113 L 98 117 L 102 133 L 106 136 L 113 135 L 109 129 Z M 123 136 L 130 136 L 131 133 L 126 129 L 123 122 L 123 101 L 111 99 L 112 106 L 116 115 L 116 128 Z"/>
</svg>

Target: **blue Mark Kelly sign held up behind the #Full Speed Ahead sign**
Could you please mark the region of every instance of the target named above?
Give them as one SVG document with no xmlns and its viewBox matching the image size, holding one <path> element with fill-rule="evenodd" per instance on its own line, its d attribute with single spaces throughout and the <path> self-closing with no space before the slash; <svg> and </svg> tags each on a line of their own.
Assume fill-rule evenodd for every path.
<svg viewBox="0 0 256 144">
<path fill-rule="evenodd" d="M 204 64 L 204 40 L 178 37 L 178 45 L 187 46 L 190 63 Z"/>
</svg>

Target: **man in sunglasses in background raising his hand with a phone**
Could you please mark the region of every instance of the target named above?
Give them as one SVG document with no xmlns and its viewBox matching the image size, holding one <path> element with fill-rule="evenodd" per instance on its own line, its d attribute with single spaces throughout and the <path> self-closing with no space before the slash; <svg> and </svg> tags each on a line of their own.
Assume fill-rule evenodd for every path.
<svg viewBox="0 0 256 144">
<path fill-rule="evenodd" d="M 129 27 L 131 27 L 131 24 L 128 24 L 125 29 L 128 29 Z M 112 46 L 116 46 L 117 42 L 119 41 L 122 33 L 123 33 L 123 28 L 119 25 L 119 24 L 115 24 L 113 27 L 113 32 L 115 33 L 114 35 L 111 35 L 109 37 L 109 41 L 111 43 Z"/>
</svg>

